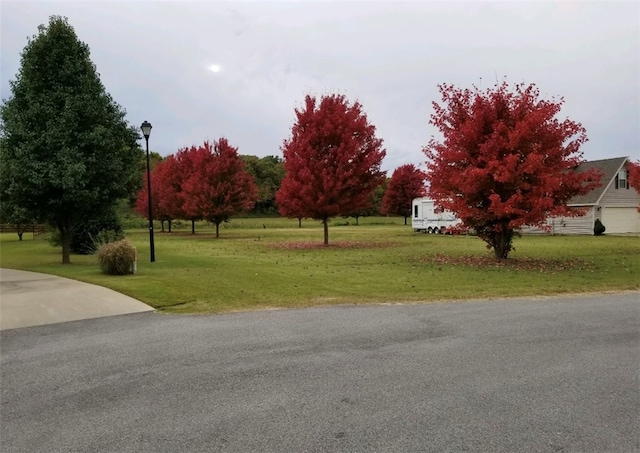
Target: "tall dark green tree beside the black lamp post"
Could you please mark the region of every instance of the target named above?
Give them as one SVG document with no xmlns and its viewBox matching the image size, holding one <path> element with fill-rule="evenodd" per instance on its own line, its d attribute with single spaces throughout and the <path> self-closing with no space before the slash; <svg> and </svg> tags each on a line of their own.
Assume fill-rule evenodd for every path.
<svg viewBox="0 0 640 453">
<path fill-rule="evenodd" d="M 74 228 L 138 184 L 139 134 L 66 18 L 40 25 L 21 57 L 0 108 L 0 193 L 58 229 L 66 264 Z"/>
</svg>

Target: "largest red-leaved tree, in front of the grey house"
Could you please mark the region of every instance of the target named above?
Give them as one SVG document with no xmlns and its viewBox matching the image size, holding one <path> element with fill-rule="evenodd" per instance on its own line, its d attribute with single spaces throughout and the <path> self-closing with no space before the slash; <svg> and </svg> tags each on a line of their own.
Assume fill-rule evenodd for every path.
<svg viewBox="0 0 640 453">
<path fill-rule="evenodd" d="M 577 216 L 568 201 L 600 185 L 597 170 L 573 171 L 587 140 L 581 124 L 556 114 L 564 99 L 539 99 L 535 85 L 493 89 L 439 86 L 430 124 L 444 136 L 424 148 L 428 195 L 508 258 L 515 232 L 549 216 Z"/>
</svg>

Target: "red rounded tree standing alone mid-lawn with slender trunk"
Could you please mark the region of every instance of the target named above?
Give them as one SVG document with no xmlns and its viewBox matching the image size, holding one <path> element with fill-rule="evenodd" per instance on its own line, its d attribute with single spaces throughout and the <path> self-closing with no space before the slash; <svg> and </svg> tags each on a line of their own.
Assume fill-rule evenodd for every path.
<svg viewBox="0 0 640 453">
<path fill-rule="evenodd" d="M 386 152 L 362 106 L 343 95 L 323 96 L 319 103 L 307 96 L 295 113 L 292 136 L 282 147 L 286 174 L 276 202 L 284 216 L 322 222 L 328 245 L 329 219 L 368 206 L 384 182 Z"/>
</svg>

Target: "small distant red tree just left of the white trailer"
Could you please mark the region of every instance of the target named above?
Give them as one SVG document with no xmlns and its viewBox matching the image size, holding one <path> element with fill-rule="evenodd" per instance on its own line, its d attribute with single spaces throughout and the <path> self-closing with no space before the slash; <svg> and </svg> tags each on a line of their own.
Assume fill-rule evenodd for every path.
<svg viewBox="0 0 640 453">
<path fill-rule="evenodd" d="M 407 217 L 411 216 L 413 199 L 427 194 L 424 184 L 426 177 L 427 175 L 413 164 L 396 168 L 382 198 L 382 214 L 402 216 L 406 225 Z"/>
</svg>

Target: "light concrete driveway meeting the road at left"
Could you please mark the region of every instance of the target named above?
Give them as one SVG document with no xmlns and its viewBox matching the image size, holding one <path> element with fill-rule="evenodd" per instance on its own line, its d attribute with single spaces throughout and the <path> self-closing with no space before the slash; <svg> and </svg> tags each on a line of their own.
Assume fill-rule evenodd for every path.
<svg viewBox="0 0 640 453">
<path fill-rule="evenodd" d="M 151 310 L 138 300 L 101 286 L 0 269 L 0 330 Z"/>
</svg>

